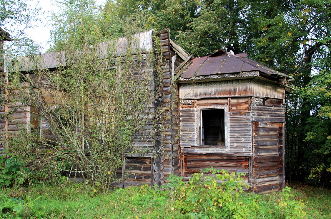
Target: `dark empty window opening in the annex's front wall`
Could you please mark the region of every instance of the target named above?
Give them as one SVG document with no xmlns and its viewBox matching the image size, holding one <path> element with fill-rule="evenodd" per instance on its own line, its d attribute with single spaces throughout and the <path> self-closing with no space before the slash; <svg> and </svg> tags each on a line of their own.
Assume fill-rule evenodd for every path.
<svg viewBox="0 0 331 219">
<path fill-rule="evenodd" d="M 202 113 L 201 144 L 223 145 L 225 142 L 224 109 L 205 109 Z"/>
</svg>

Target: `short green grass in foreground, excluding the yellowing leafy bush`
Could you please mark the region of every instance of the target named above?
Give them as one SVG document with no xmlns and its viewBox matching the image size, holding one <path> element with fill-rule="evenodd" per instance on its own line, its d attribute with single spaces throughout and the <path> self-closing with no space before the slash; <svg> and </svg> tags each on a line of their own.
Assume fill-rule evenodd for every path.
<svg viewBox="0 0 331 219">
<path fill-rule="evenodd" d="M 331 191 L 293 186 L 291 199 L 303 200 L 306 218 L 331 218 Z M 284 218 L 275 203 L 279 193 L 242 194 L 243 203 L 256 203 L 250 218 Z M 190 218 L 178 210 L 172 192 L 156 192 L 147 186 L 109 191 L 105 196 L 81 184 L 34 185 L 0 190 L 0 218 Z"/>
</svg>

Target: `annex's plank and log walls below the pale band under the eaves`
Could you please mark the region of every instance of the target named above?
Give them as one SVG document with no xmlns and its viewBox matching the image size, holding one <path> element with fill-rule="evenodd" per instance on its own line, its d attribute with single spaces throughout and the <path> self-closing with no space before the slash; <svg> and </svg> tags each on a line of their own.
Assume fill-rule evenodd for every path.
<svg viewBox="0 0 331 219">
<path fill-rule="evenodd" d="M 283 188 L 285 107 L 282 99 L 226 97 L 183 102 L 186 104 L 181 104 L 180 109 L 182 176 L 189 177 L 213 166 L 245 173 L 247 182 L 252 183 L 251 191 L 256 193 Z M 220 106 L 228 109 L 225 145 L 202 146 L 200 110 Z"/>
</svg>

